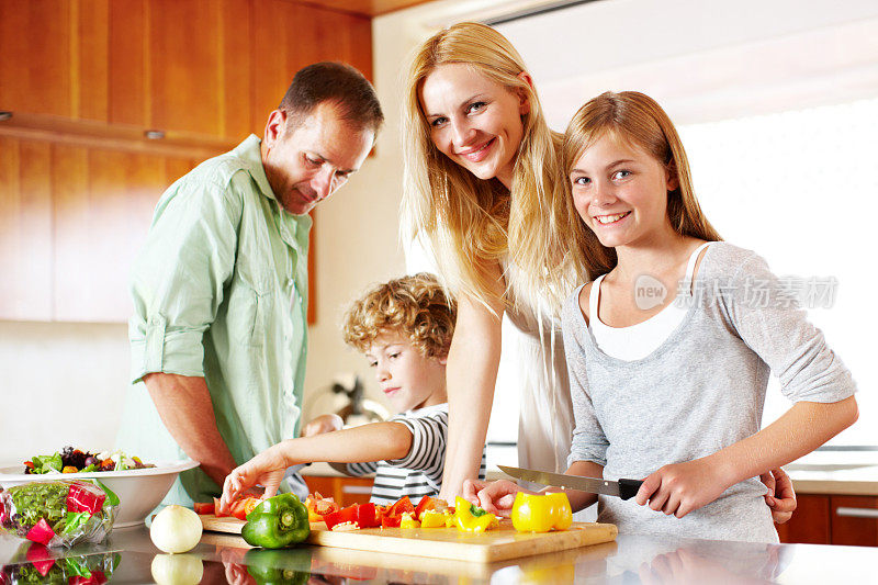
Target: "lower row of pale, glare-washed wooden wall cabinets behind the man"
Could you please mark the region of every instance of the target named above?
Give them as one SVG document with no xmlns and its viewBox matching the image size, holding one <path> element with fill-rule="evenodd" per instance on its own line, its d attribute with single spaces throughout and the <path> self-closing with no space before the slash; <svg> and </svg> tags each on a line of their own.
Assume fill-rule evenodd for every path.
<svg viewBox="0 0 878 585">
<path fill-rule="evenodd" d="M 156 202 L 196 164 L 0 136 L 0 319 L 125 322 Z"/>
</svg>

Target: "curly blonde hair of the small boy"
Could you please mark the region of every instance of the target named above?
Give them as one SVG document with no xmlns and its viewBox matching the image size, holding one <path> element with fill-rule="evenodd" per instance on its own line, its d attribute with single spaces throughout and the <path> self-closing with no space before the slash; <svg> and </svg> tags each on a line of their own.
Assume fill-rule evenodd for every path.
<svg viewBox="0 0 878 585">
<path fill-rule="evenodd" d="M 370 289 L 345 316 L 345 342 L 365 353 L 385 331 L 407 337 L 424 357 L 446 358 L 458 308 L 435 275 L 403 277 Z"/>
</svg>

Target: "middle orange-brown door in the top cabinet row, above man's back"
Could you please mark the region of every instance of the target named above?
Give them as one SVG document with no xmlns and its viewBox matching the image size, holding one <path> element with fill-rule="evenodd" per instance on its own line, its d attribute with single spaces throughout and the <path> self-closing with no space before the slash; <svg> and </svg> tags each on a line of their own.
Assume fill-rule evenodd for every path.
<svg viewBox="0 0 878 585">
<path fill-rule="evenodd" d="M 246 136 L 249 2 L 120 0 L 110 22 L 111 122 L 169 134 Z"/>
</svg>

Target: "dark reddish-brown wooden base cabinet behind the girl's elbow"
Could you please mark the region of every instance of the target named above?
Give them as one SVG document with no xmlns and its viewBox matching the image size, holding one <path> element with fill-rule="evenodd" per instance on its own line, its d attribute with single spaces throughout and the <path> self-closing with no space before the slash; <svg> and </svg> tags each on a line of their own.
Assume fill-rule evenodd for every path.
<svg viewBox="0 0 878 585">
<path fill-rule="evenodd" d="M 878 547 L 878 496 L 801 494 L 781 542 Z"/>
</svg>

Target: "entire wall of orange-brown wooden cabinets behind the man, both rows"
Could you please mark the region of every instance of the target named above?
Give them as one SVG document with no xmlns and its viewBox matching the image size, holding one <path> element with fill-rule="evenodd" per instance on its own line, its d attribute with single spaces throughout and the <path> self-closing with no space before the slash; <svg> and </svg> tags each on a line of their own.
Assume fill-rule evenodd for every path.
<svg viewBox="0 0 878 585">
<path fill-rule="evenodd" d="M 173 180 L 261 135 L 303 66 L 372 75 L 368 16 L 292 0 L 0 0 L 0 319 L 16 320 L 124 322 Z"/>
</svg>

